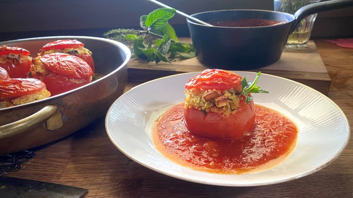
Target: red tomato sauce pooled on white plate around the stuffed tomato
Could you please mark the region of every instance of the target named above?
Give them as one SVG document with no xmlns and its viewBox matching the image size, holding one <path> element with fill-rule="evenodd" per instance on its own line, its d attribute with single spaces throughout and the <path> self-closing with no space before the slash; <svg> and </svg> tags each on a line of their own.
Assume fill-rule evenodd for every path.
<svg viewBox="0 0 353 198">
<path fill-rule="evenodd" d="M 183 112 L 180 103 L 161 115 L 154 123 L 153 142 L 165 157 L 184 166 L 219 173 L 258 172 L 278 165 L 296 147 L 296 124 L 261 105 L 256 105 L 253 131 L 240 139 L 193 134 Z"/>
</svg>

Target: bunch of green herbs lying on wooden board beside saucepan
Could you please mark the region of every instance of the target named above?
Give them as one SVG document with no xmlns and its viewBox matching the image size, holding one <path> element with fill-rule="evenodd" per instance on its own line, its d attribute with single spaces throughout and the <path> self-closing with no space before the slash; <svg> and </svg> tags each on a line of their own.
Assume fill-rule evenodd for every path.
<svg viewBox="0 0 353 198">
<path fill-rule="evenodd" d="M 143 30 L 112 29 L 103 36 L 126 44 L 135 57 L 147 62 L 171 62 L 175 57 L 195 57 L 193 44 L 180 42 L 174 28 L 168 23 L 175 13 L 176 10 L 172 8 L 155 9 L 148 15 L 140 16 Z"/>
</svg>

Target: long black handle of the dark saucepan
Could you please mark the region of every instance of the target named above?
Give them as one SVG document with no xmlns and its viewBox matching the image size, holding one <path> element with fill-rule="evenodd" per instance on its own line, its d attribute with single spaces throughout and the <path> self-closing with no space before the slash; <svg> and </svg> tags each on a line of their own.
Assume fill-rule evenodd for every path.
<svg viewBox="0 0 353 198">
<path fill-rule="evenodd" d="M 327 0 L 304 5 L 294 13 L 295 21 L 289 33 L 292 33 L 297 24 L 306 16 L 317 12 L 353 6 L 353 0 Z"/>
</svg>

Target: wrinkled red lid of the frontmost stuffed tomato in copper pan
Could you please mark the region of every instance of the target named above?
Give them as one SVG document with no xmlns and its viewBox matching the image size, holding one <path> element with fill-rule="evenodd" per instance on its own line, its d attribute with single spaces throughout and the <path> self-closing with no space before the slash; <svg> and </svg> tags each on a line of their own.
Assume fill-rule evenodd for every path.
<svg viewBox="0 0 353 198">
<path fill-rule="evenodd" d="M 9 99 L 28 95 L 46 87 L 42 80 L 35 78 L 7 78 L 0 80 L 0 98 Z"/>
</svg>

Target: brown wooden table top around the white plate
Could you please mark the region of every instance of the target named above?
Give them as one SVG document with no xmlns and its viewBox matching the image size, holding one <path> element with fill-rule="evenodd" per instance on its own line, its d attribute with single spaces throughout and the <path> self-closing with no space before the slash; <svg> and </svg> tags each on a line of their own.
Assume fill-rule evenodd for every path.
<svg viewBox="0 0 353 198">
<path fill-rule="evenodd" d="M 353 49 L 324 40 L 315 44 L 332 80 L 328 96 L 353 123 Z M 126 89 L 134 85 L 130 82 Z M 8 176 L 88 188 L 85 197 L 353 197 L 351 142 L 335 161 L 315 173 L 253 187 L 193 183 L 145 168 L 111 143 L 104 118 L 33 150 L 35 157 Z"/>
</svg>

